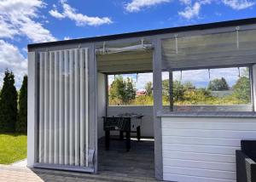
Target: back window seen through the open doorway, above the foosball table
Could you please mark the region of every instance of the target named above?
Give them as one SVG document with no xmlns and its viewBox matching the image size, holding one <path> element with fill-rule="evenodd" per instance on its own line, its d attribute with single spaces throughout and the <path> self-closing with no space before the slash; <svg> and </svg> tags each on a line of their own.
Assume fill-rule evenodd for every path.
<svg viewBox="0 0 256 182">
<path fill-rule="evenodd" d="M 108 105 L 153 105 L 153 74 L 108 75 Z"/>
</svg>

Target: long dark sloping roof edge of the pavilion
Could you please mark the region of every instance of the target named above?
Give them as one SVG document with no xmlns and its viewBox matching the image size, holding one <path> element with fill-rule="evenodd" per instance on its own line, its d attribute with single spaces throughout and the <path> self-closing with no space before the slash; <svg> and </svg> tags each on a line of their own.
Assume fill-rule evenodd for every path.
<svg viewBox="0 0 256 182">
<path fill-rule="evenodd" d="M 156 30 L 150 30 L 150 31 L 136 31 L 136 32 L 122 33 L 122 34 L 114 34 L 114 35 L 101 36 L 101 37 L 86 37 L 86 38 L 79 38 L 79 39 L 72 39 L 72 40 L 49 42 L 49 43 L 33 43 L 33 44 L 28 44 L 27 49 L 29 51 L 31 48 L 42 48 L 42 47 L 49 47 L 49 46 L 67 45 L 67 44 L 73 44 L 73 43 L 102 42 L 102 41 L 110 41 L 110 40 L 117 40 L 117 39 L 130 38 L 130 37 L 146 37 L 146 36 L 175 33 L 175 32 L 181 32 L 181 31 L 206 30 L 206 29 L 221 28 L 221 27 L 227 27 L 227 26 L 243 26 L 243 25 L 249 25 L 249 24 L 255 24 L 255 23 L 256 23 L 256 18 L 228 20 L 228 21 L 220 21 L 220 22 L 194 25 L 194 26 L 178 26 L 178 27 L 156 29 Z"/>
</svg>

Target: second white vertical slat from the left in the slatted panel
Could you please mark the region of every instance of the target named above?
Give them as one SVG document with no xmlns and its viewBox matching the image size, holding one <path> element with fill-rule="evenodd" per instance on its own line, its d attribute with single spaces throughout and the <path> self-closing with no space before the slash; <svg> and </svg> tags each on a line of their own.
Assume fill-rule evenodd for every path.
<svg viewBox="0 0 256 182">
<path fill-rule="evenodd" d="M 44 53 L 44 162 L 49 162 L 49 53 Z"/>
</svg>

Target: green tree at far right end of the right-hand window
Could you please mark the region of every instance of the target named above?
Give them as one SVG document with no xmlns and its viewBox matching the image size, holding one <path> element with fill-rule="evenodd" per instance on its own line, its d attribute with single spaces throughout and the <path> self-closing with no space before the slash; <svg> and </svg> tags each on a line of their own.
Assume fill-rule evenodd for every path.
<svg viewBox="0 0 256 182">
<path fill-rule="evenodd" d="M 240 77 L 233 86 L 234 95 L 238 100 L 249 103 L 251 97 L 251 84 L 248 77 Z"/>
</svg>

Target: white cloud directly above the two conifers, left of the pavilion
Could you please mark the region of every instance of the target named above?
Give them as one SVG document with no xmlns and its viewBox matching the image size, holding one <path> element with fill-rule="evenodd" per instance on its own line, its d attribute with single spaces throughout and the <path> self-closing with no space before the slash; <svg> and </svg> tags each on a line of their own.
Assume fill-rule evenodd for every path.
<svg viewBox="0 0 256 182">
<path fill-rule="evenodd" d="M 0 39 L 0 85 L 3 85 L 4 71 L 9 69 L 15 74 L 15 85 L 20 88 L 20 84 L 27 70 L 27 60 L 20 54 L 19 48 L 13 44 Z"/>
</svg>

